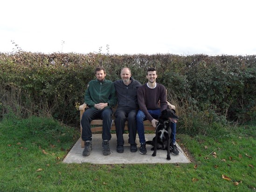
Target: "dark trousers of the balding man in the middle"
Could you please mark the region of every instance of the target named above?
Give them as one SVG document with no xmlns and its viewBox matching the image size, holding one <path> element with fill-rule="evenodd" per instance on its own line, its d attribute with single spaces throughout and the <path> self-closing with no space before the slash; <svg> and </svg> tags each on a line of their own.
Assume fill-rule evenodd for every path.
<svg viewBox="0 0 256 192">
<path fill-rule="evenodd" d="M 123 134 L 125 132 L 125 121 L 128 121 L 128 131 L 129 131 L 129 144 L 136 144 L 136 114 L 138 110 L 131 110 L 129 108 L 118 108 L 115 112 L 115 125 L 117 134 L 117 144 L 124 145 Z"/>
</svg>

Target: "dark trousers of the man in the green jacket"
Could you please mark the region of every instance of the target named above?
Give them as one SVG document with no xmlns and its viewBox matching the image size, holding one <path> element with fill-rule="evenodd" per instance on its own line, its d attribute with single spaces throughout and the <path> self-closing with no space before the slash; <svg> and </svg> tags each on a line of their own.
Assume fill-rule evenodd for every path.
<svg viewBox="0 0 256 192">
<path fill-rule="evenodd" d="M 84 111 L 81 125 L 82 125 L 82 140 L 90 141 L 92 134 L 90 130 L 90 122 L 94 119 L 100 118 L 103 120 L 102 139 L 111 139 L 111 124 L 112 124 L 112 110 L 105 108 L 104 110 L 97 110 L 95 108 L 89 108 Z"/>
</svg>

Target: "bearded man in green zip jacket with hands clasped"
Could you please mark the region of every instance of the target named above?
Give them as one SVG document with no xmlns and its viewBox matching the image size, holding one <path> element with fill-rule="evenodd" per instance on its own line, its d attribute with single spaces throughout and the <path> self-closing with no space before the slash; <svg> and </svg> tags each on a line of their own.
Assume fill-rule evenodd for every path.
<svg viewBox="0 0 256 192">
<path fill-rule="evenodd" d="M 95 69 L 95 80 L 91 80 L 85 92 L 84 103 L 89 106 L 85 110 L 81 120 L 82 140 L 85 142 L 83 156 L 90 155 L 92 150 L 90 122 L 100 118 L 103 120 L 102 148 L 103 154 L 110 154 L 109 140 L 111 139 L 112 110 L 117 104 L 116 89 L 113 82 L 106 80 L 106 72 L 103 67 Z"/>
</svg>

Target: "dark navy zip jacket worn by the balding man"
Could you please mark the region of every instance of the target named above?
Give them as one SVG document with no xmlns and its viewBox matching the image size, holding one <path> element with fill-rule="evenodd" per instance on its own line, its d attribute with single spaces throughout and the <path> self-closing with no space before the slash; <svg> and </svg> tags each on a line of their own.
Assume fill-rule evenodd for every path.
<svg viewBox="0 0 256 192">
<path fill-rule="evenodd" d="M 138 109 L 137 90 L 141 83 L 130 77 L 131 83 L 125 85 L 123 80 L 114 82 L 118 96 L 118 108 Z"/>
</svg>

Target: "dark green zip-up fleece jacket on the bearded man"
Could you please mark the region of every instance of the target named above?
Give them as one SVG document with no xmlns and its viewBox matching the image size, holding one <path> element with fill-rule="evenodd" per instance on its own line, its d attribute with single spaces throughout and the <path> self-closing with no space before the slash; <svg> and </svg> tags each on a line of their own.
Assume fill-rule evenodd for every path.
<svg viewBox="0 0 256 192">
<path fill-rule="evenodd" d="M 113 82 L 104 79 L 103 82 L 97 79 L 91 80 L 88 88 L 85 91 L 84 103 L 88 104 L 90 108 L 97 103 L 108 103 L 111 108 L 117 104 L 116 89 Z"/>
</svg>

